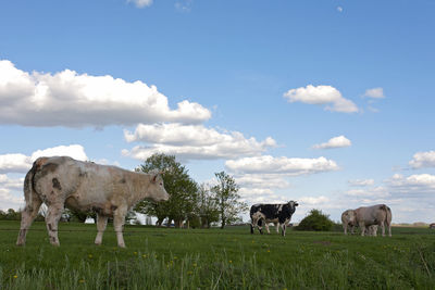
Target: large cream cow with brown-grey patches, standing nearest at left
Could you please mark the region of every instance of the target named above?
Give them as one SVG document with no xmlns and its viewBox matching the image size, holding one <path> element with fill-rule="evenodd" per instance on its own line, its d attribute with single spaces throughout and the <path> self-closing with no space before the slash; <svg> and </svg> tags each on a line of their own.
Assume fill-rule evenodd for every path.
<svg viewBox="0 0 435 290">
<path fill-rule="evenodd" d="M 101 244 L 108 217 L 113 216 L 117 245 L 125 248 L 123 226 L 127 212 L 139 201 L 165 201 L 170 197 L 158 172 L 150 174 L 115 166 L 82 162 L 69 156 L 39 157 L 24 179 L 26 205 L 22 212 L 17 245 L 24 245 L 26 234 L 42 202 L 50 242 L 59 245 L 58 223 L 64 206 L 97 212 L 96 244 Z"/>
</svg>

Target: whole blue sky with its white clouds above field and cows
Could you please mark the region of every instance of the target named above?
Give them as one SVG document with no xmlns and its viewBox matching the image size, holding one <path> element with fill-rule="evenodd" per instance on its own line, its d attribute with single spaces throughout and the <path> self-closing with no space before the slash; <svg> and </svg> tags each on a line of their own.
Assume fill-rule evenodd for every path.
<svg viewBox="0 0 435 290">
<path fill-rule="evenodd" d="M 0 209 L 41 154 L 434 222 L 435 2 L 0 2 Z"/>
</svg>

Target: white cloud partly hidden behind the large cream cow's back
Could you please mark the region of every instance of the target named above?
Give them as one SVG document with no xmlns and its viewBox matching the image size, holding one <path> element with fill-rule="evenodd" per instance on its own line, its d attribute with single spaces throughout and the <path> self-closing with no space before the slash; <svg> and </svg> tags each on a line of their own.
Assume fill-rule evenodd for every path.
<svg viewBox="0 0 435 290">
<path fill-rule="evenodd" d="M 45 150 L 37 150 L 30 156 L 15 153 L 0 155 L 0 173 L 26 173 L 33 162 L 40 156 L 66 155 L 76 160 L 86 161 L 85 149 L 79 144 L 59 146 Z"/>
</svg>

